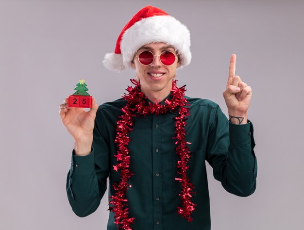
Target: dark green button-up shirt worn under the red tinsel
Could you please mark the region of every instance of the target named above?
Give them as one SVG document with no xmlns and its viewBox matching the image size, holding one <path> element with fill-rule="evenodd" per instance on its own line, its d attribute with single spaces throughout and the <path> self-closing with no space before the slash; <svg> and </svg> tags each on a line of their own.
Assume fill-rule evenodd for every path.
<svg viewBox="0 0 304 230">
<path fill-rule="evenodd" d="M 187 97 L 186 97 L 187 98 Z M 227 120 L 220 107 L 206 99 L 187 98 L 190 115 L 186 121 L 186 141 L 193 153 L 187 175 L 194 189 L 192 202 L 197 204 L 192 223 L 177 214 L 180 206 L 179 181 L 174 137 L 176 114 L 135 117 L 130 149 L 130 170 L 134 175 L 127 190 L 129 217 L 135 217 L 134 230 L 210 230 L 207 161 L 213 167 L 214 178 L 229 193 L 246 197 L 256 186 L 257 163 L 253 152 L 251 122 L 235 125 Z M 163 103 L 163 101 L 162 101 Z M 72 156 L 67 178 L 69 203 L 78 216 L 93 213 L 110 185 L 120 180 L 113 170 L 117 164 L 114 143 L 118 116 L 126 104 L 123 99 L 101 105 L 97 111 L 92 152 L 87 156 Z M 112 186 L 109 197 L 114 194 Z M 107 208 L 107 207 L 103 207 Z M 103 229 L 103 228 L 102 228 Z M 110 212 L 107 230 L 117 230 L 114 213 Z"/>
</svg>

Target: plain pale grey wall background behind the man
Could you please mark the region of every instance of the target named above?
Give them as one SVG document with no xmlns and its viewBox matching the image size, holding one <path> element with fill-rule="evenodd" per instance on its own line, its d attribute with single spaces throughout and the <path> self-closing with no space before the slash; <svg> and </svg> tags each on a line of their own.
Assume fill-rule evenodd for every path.
<svg viewBox="0 0 304 230">
<path fill-rule="evenodd" d="M 187 96 L 226 113 L 233 53 L 236 74 L 253 88 L 257 188 L 228 194 L 208 167 L 212 230 L 302 230 L 303 0 L 0 0 L 0 229 L 106 229 L 107 192 L 85 218 L 68 204 L 73 140 L 59 104 L 81 78 L 99 104 L 121 97 L 134 72 L 105 69 L 103 56 L 148 4 L 190 30 L 192 62 L 177 72 Z"/>
</svg>

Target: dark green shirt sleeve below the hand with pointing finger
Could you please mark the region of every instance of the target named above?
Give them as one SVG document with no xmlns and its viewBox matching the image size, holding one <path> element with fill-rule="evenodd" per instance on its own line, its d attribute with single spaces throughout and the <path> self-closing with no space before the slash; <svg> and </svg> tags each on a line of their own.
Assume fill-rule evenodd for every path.
<svg viewBox="0 0 304 230">
<path fill-rule="evenodd" d="M 255 191 L 257 162 L 253 125 L 236 125 L 217 107 L 210 123 L 206 160 L 214 178 L 229 193 L 247 197 Z"/>
</svg>

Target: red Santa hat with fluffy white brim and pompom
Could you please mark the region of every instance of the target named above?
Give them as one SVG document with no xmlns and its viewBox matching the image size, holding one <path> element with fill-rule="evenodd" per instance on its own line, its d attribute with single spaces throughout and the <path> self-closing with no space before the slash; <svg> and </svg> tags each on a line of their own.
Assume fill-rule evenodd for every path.
<svg viewBox="0 0 304 230">
<path fill-rule="evenodd" d="M 178 50 L 179 68 L 191 61 L 190 33 L 186 26 L 165 11 L 153 6 L 139 10 L 120 32 L 114 53 L 104 56 L 103 65 L 121 72 L 132 67 L 135 52 L 142 46 L 164 42 Z"/>
</svg>

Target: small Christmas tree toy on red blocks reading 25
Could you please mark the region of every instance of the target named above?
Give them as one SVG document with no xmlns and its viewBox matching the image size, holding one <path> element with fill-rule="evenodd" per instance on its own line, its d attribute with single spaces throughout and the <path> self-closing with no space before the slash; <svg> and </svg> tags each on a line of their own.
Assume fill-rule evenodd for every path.
<svg viewBox="0 0 304 230">
<path fill-rule="evenodd" d="M 77 91 L 68 97 L 68 107 L 91 108 L 92 96 L 86 92 L 88 88 L 85 86 L 84 79 L 80 79 L 75 88 Z"/>
</svg>

